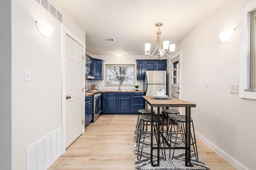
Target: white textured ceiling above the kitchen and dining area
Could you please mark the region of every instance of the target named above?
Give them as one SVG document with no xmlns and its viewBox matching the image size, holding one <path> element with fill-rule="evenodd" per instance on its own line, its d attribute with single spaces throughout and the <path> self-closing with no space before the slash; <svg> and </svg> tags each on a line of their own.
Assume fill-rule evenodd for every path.
<svg viewBox="0 0 256 170">
<path fill-rule="evenodd" d="M 145 55 L 144 44 L 178 43 L 226 0 L 56 0 L 86 32 L 89 55 Z M 104 42 L 102 38 L 113 38 Z"/>
</svg>

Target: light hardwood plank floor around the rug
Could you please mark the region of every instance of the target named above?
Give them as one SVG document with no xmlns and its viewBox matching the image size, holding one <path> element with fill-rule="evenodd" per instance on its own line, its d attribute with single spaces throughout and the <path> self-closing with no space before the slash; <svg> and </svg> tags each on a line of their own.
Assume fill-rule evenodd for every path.
<svg viewBox="0 0 256 170">
<path fill-rule="evenodd" d="M 48 170 L 135 170 L 137 115 L 101 115 Z M 198 155 L 211 170 L 235 170 L 201 141 Z"/>
</svg>

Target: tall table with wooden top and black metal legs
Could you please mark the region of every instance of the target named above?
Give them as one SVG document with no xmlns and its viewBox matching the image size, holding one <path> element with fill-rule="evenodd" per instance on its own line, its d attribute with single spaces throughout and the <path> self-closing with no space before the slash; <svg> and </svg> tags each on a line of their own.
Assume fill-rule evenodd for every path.
<svg viewBox="0 0 256 170">
<path fill-rule="evenodd" d="M 185 165 L 193 166 L 190 162 L 190 118 L 191 118 L 191 107 L 196 107 L 196 104 L 186 102 L 183 100 L 172 98 L 172 100 L 154 100 L 151 99 L 154 96 L 142 96 L 146 103 L 151 106 L 151 158 L 150 162 L 152 166 L 159 166 L 159 153 L 160 149 L 185 149 Z M 170 98 L 170 97 L 168 97 Z M 158 117 L 158 128 L 157 128 L 157 147 L 153 147 L 153 107 L 157 107 L 157 117 Z M 185 128 L 185 147 L 171 147 L 170 143 L 165 139 L 164 135 L 162 138 L 167 143 L 167 146 L 160 147 L 160 107 L 186 107 L 186 128 Z M 157 149 L 157 164 L 153 164 L 153 149 Z"/>
</svg>

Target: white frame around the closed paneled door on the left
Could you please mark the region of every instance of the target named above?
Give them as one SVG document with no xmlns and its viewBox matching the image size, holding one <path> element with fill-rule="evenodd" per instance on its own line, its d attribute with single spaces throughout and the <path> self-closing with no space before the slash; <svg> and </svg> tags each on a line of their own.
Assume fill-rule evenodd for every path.
<svg viewBox="0 0 256 170">
<path fill-rule="evenodd" d="M 63 129 L 63 137 L 62 137 L 62 154 L 66 151 L 66 35 L 74 39 L 78 44 L 80 44 L 83 47 L 83 55 L 85 58 L 85 43 L 80 40 L 74 33 L 72 33 L 69 29 L 67 29 L 64 25 L 62 25 L 62 116 L 61 116 L 61 126 Z M 83 59 L 83 81 L 82 81 L 82 87 L 85 87 L 85 59 Z M 82 113 L 85 113 L 85 97 L 84 97 L 84 88 L 82 90 Z M 85 123 L 85 115 L 82 114 L 82 120 Z M 81 121 L 82 121 L 81 120 Z M 82 134 L 84 133 L 84 123 L 82 124 Z"/>
</svg>

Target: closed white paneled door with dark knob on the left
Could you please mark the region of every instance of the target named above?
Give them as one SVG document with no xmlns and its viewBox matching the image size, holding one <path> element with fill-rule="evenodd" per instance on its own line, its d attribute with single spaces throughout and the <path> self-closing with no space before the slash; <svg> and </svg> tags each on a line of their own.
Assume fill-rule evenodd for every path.
<svg viewBox="0 0 256 170">
<path fill-rule="evenodd" d="M 66 148 L 82 134 L 83 48 L 66 35 Z"/>
</svg>

